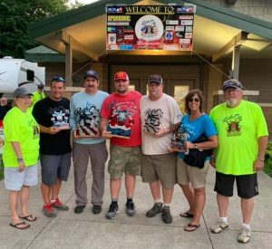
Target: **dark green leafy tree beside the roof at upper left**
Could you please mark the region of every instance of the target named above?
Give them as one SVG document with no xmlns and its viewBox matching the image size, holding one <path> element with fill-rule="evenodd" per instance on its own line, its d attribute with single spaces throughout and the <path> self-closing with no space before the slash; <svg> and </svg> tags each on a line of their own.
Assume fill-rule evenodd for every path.
<svg viewBox="0 0 272 249">
<path fill-rule="evenodd" d="M 79 5 L 69 5 L 69 0 L 1 0 L 0 57 L 24 58 L 24 51 L 37 45 L 29 38 L 28 24 Z"/>
</svg>

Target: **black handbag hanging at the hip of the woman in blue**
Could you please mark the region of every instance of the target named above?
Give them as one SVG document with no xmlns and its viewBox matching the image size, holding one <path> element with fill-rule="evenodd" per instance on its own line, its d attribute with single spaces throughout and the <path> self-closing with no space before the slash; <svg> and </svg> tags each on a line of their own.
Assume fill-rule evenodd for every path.
<svg viewBox="0 0 272 249">
<path fill-rule="evenodd" d="M 208 139 L 203 134 L 199 139 L 192 141 L 192 143 L 206 142 Z M 212 155 L 213 149 L 199 149 L 199 148 L 189 148 L 189 153 L 185 155 L 183 161 L 192 167 L 204 168 L 205 161 L 207 157 Z"/>
</svg>

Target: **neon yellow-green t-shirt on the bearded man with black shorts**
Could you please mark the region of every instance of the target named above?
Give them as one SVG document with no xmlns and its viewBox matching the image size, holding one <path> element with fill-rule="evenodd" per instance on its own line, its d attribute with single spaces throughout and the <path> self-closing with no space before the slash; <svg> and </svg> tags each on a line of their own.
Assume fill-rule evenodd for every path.
<svg viewBox="0 0 272 249">
<path fill-rule="evenodd" d="M 219 132 L 217 171 L 235 176 L 253 174 L 257 139 L 268 135 L 261 108 L 250 101 L 241 101 L 235 108 L 222 103 L 213 108 L 209 116 Z"/>
</svg>

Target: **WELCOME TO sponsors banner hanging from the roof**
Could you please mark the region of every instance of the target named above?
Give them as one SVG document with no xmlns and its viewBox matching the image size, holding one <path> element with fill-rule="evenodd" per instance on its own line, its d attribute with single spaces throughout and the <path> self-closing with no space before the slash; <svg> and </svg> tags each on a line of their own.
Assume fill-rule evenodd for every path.
<svg viewBox="0 0 272 249">
<path fill-rule="evenodd" d="M 107 50 L 192 51 L 193 5 L 107 5 Z"/>
</svg>

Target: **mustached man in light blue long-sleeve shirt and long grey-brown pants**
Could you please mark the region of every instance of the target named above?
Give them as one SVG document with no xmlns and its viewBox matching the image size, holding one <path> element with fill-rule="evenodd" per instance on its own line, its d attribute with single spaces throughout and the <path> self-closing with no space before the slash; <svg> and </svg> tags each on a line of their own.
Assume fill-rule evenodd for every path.
<svg viewBox="0 0 272 249">
<path fill-rule="evenodd" d="M 99 129 L 102 102 L 108 97 L 99 91 L 98 73 L 84 73 L 85 91 L 73 95 L 71 100 L 70 125 L 73 129 L 73 170 L 75 190 L 75 214 L 81 214 L 87 201 L 86 173 L 89 158 L 92 166 L 92 213 L 102 212 L 104 193 L 104 168 L 108 158 L 105 139 Z"/>
</svg>

